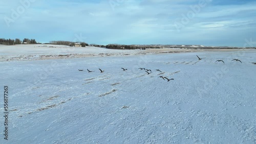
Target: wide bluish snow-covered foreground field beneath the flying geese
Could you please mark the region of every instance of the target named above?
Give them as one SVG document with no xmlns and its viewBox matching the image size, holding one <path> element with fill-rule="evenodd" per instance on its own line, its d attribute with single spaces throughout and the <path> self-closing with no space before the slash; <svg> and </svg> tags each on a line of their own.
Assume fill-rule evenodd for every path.
<svg viewBox="0 0 256 144">
<path fill-rule="evenodd" d="M 256 143 L 255 56 L 240 50 L 2 61 L 8 143 Z M 3 112 L 3 99 L 0 105 Z"/>
</svg>

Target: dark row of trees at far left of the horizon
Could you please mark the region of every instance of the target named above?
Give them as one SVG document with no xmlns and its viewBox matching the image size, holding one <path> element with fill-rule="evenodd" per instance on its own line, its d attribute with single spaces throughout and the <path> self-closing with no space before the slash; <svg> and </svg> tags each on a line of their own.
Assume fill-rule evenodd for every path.
<svg viewBox="0 0 256 144">
<path fill-rule="evenodd" d="M 0 38 L 0 44 L 4 44 L 4 45 L 14 45 L 14 44 L 22 44 L 22 43 L 36 43 L 35 39 L 28 39 L 28 38 L 24 38 L 23 40 L 20 40 L 18 38 L 16 39 L 5 39 L 5 38 Z"/>
</svg>

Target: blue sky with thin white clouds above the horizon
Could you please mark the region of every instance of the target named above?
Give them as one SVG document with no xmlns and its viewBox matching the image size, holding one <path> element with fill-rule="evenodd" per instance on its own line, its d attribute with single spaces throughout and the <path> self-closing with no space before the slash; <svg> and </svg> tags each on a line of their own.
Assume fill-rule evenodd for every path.
<svg viewBox="0 0 256 144">
<path fill-rule="evenodd" d="M 245 39 L 256 41 L 255 0 L 10 0 L 0 2 L 0 18 L 0 37 L 39 42 L 243 46 Z"/>
</svg>

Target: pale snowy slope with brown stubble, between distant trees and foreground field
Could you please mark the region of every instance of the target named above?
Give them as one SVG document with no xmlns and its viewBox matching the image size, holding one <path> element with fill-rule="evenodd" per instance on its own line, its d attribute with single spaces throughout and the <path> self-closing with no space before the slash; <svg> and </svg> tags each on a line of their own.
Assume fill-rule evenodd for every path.
<svg viewBox="0 0 256 144">
<path fill-rule="evenodd" d="M 0 61 L 28 61 L 47 59 L 67 59 L 84 57 L 128 56 L 161 53 L 200 52 L 195 49 L 146 49 L 142 50 L 111 50 L 102 47 L 70 47 L 53 44 L 19 44 L 10 46 L 0 45 Z M 214 51 L 214 50 L 210 50 Z M 218 50 L 237 51 L 237 50 Z"/>
</svg>

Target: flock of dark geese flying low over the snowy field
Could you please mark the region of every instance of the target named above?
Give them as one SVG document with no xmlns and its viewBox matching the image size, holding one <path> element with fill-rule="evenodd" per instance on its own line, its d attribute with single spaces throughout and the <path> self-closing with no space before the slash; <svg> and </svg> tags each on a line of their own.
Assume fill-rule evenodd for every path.
<svg viewBox="0 0 256 144">
<path fill-rule="evenodd" d="M 197 55 L 197 57 L 198 57 L 198 60 L 202 60 L 202 59 L 204 59 L 204 58 L 200 58 L 198 55 Z M 233 60 L 231 60 L 231 61 L 239 61 L 239 62 L 241 62 L 242 63 L 242 61 L 241 60 L 239 60 L 239 59 L 233 59 Z M 223 60 L 217 60 L 216 62 L 223 62 L 223 63 L 225 63 Z M 216 63 L 215 62 L 215 63 Z M 252 64 L 256 64 L 256 62 L 251 62 Z M 121 67 L 121 69 L 123 69 L 123 71 L 125 71 L 125 70 L 127 70 L 127 68 L 123 68 L 123 67 Z M 150 75 L 151 73 L 152 73 L 152 70 L 151 69 L 146 69 L 146 68 L 138 68 L 138 69 L 140 69 L 140 70 L 145 70 L 145 72 L 147 73 L 147 75 Z M 78 69 L 79 71 L 83 71 L 83 69 Z M 100 70 L 100 73 L 104 73 L 104 70 L 102 70 L 102 69 L 100 69 L 99 68 L 99 70 Z M 162 71 L 160 70 L 160 69 L 155 69 L 156 71 L 159 71 L 159 72 L 161 72 L 162 73 Z M 88 71 L 88 73 L 92 73 L 92 72 L 94 72 L 94 71 L 92 71 L 92 70 L 89 70 L 89 69 L 87 69 L 87 71 Z M 174 79 L 169 79 L 169 78 L 167 78 L 167 77 L 164 77 L 164 76 L 160 76 L 160 77 L 158 77 L 158 78 L 162 78 L 163 80 L 167 80 L 167 82 L 169 82 L 170 80 L 174 80 Z"/>
</svg>

